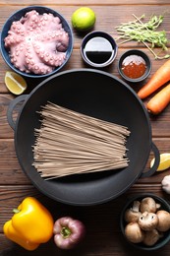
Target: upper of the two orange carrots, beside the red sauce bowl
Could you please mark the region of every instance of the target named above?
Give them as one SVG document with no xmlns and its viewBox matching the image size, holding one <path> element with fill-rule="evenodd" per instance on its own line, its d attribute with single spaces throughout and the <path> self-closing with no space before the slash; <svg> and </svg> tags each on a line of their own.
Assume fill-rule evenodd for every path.
<svg viewBox="0 0 170 256">
<path fill-rule="evenodd" d="M 144 98 L 151 95 L 158 88 L 170 80 L 170 59 L 167 60 L 139 91 L 138 96 Z"/>
</svg>

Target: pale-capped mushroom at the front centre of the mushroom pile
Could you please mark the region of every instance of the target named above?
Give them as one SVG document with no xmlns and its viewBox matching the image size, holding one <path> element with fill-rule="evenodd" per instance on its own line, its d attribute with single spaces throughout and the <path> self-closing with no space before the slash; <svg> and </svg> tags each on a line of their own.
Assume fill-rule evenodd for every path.
<svg viewBox="0 0 170 256">
<path fill-rule="evenodd" d="M 150 231 L 156 228 L 157 224 L 158 224 L 158 217 L 154 213 L 144 212 L 139 219 L 139 225 L 142 228 L 142 230 L 145 230 L 145 231 Z"/>
</svg>

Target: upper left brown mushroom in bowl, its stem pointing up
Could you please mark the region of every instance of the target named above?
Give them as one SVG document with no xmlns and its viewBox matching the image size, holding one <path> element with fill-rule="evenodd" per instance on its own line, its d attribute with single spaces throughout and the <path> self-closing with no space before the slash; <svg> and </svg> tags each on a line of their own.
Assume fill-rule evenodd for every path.
<svg viewBox="0 0 170 256">
<path fill-rule="evenodd" d="M 125 211 L 125 221 L 129 223 L 137 223 L 142 216 L 140 212 L 140 201 L 134 201 L 133 206 Z"/>
</svg>

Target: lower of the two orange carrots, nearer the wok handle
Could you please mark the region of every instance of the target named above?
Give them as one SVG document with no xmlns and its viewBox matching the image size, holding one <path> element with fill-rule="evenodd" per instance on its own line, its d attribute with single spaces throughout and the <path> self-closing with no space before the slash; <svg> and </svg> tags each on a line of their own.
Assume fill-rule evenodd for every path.
<svg viewBox="0 0 170 256">
<path fill-rule="evenodd" d="M 170 84 L 153 96 L 146 107 L 152 114 L 159 114 L 170 103 Z"/>
</svg>

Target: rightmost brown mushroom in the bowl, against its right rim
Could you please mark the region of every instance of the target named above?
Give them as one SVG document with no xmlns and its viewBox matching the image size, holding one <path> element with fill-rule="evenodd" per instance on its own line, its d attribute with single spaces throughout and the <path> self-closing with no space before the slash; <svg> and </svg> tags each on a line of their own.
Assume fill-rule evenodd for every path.
<svg viewBox="0 0 170 256">
<path fill-rule="evenodd" d="M 170 214 L 165 210 L 159 210 L 156 215 L 158 218 L 157 230 L 164 232 L 170 229 Z"/>
</svg>

